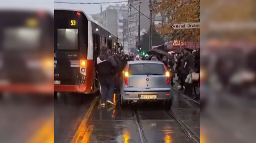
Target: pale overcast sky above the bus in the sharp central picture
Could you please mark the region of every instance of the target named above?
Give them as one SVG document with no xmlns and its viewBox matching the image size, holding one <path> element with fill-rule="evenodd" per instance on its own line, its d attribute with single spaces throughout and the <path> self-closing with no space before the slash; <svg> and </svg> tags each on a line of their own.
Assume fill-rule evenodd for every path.
<svg viewBox="0 0 256 143">
<path fill-rule="evenodd" d="M 68 2 L 82 2 L 82 3 L 101 3 L 101 2 L 113 2 L 113 1 L 125 1 L 125 0 L 54 0 L 54 1 L 68 1 Z M 102 4 L 102 10 L 106 9 L 109 5 L 116 4 L 127 4 L 126 3 L 112 3 L 112 4 Z M 99 4 L 60 4 L 54 3 L 54 8 L 77 8 L 84 10 L 88 14 L 95 14 L 100 12 Z"/>
</svg>

